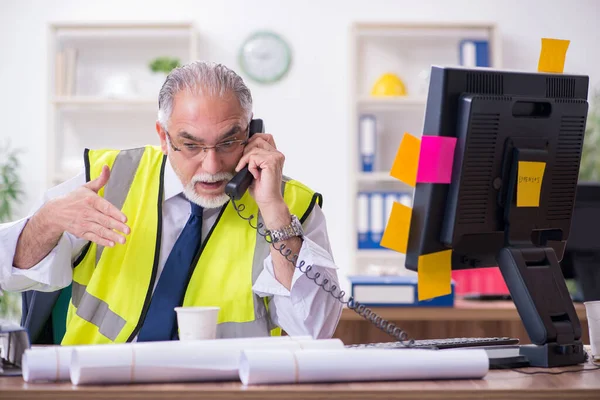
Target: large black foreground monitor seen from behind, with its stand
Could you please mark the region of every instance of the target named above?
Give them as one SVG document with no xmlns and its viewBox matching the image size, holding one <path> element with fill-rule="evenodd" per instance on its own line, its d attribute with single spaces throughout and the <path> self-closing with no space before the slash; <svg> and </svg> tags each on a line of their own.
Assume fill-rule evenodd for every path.
<svg viewBox="0 0 600 400">
<path fill-rule="evenodd" d="M 456 137 L 450 184 L 414 191 L 406 266 L 452 249 L 452 268 L 500 267 L 533 366 L 585 360 L 562 276 L 587 119 L 586 76 L 432 67 L 424 135 Z M 517 207 L 520 161 L 544 162 L 538 207 Z"/>
</svg>

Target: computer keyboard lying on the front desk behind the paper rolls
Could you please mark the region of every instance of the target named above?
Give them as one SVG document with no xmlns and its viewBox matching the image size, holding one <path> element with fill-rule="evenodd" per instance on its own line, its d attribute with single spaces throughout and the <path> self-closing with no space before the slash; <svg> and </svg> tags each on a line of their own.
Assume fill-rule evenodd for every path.
<svg viewBox="0 0 600 400">
<path fill-rule="evenodd" d="M 435 348 L 455 349 L 460 347 L 481 347 L 481 346 L 502 346 L 519 344 L 519 339 L 510 337 L 489 337 L 489 338 L 446 338 L 446 339 L 427 339 L 415 340 L 414 344 L 407 347 L 402 342 L 382 342 L 382 343 L 364 343 L 351 344 L 345 346 L 353 349 L 406 349 L 406 348 Z"/>
</svg>

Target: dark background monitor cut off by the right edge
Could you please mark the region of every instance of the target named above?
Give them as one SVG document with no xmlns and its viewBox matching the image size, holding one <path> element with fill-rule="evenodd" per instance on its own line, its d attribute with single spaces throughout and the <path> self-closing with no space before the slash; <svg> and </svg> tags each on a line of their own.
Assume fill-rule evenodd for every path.
<svg viewBox="0 0 600 400">
<path fill-rule="evenodd" d="M 577 285 L 576 301 L 600 300 L 600 183 L 577 185 L 571 233 L 561 267 Z"/>
</svg>

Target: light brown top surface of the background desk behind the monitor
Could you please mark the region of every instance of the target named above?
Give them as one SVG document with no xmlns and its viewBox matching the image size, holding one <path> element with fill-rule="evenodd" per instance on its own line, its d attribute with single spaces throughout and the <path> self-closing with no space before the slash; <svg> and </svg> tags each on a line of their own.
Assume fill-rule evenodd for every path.
<svg viewBox="0 0 600 400">
<path fill-rule="evenodd" d="M 370 307 L 390 321 L 520 321 L 512 301 L 474 301 L 456 299 L 454 307 Z M 580 321 L 586 321 L 585 306 L 575 303 Z M 342 321 L 362 320 L 353 310 L 344 308 Z"/>
</svg>

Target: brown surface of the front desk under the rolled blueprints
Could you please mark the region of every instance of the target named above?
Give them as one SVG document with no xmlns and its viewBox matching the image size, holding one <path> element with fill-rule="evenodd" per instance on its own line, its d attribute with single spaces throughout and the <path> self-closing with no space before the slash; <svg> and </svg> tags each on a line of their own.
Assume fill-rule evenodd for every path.
<svg viewBox="0 0 600 400">
<path fill-rule="evenodd" d="M 592 364 L 522 371 L 566 371 Z M 600 399 L 600 370 L 562 375 L 524 375 L 492 370 L 484 379 L 411 382 L 351 382 L 244 387 L 239 382 L 121 386 L 27 384 L 21 377 L 0 378 L 4 399 Z"/>
</svg>

